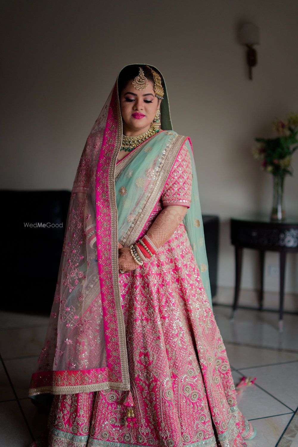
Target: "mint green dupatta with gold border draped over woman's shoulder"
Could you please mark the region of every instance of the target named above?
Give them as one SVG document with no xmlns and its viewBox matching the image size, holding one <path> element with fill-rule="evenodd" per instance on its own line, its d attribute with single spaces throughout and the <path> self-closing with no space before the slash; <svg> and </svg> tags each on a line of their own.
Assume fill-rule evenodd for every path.
<svg viewBox="0 0 298 447">
<path fill-rule="evenodd" d="M 118 240 L 129 246 L 139 239 L 149 215 L 159 200 L 178 153 L 185 144 L 192 164 L 191 205 L 183 219 L 211 304 L 211 289 L 204 240 L 198 181 L 189 137 L 162 131 L 138 146 L 116 164 L 115 190 L 118 210 Z M 212 307 L 212 304 L 211 304 Z"/>
</svg>

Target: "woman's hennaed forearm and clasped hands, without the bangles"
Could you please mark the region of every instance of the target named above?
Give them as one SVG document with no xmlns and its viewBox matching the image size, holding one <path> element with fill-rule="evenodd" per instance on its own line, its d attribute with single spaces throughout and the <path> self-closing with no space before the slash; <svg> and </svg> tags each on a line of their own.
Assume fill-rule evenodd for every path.
<svg viewBox="0 0 298 447">
<path fill-rule="evenodd" d="M 186 215 L 186 211 L 187 207 L 184 205 L 171 205 L 165 207 L 159 213 L 146 233 L 151 243 L 153 243 L 153 247 L 159 249 L 161 245 L 164 245 L 171 238 L 174 231 Z M 139 253 L 141 255 L 141 259 L 145 262 L 149 261 L 146 257 L 142 257 L 141 252 Z M 140 266 L 140 264 L 138 264 L 132 257 L 130 248 L 124 247 L 120 244 L 120 242 L 118 242 L 118 266 L 119 273 L 120 270 L 122 273 L 130 272 L 132 270 L 136 270 Z"/>
</svg>

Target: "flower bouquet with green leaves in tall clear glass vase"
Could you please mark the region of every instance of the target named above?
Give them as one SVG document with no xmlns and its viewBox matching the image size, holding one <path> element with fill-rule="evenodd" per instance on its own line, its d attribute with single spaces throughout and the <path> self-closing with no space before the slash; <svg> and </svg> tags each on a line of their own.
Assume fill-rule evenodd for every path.
<svg viewBox="0 0 298 447">
<path fill-rule="evenodd" d="M 286 121 L 273 121 L 276 138 L 255 138 L 257 145 L 252 148 L 252 155 L 261 160 L 261 169 L 273 174 L 273 206 L 271 220 L 285 219 L 282 206 L 284 178 L 293 175 L 292 155 L 298 149 L 298 114 L 291 113 Z"/>
</svg>

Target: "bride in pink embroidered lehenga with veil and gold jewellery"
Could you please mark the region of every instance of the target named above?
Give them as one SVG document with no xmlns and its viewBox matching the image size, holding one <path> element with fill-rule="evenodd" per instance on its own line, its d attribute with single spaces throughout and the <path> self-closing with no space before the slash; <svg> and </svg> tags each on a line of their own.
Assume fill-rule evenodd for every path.
<svg viewBox="0 0 298 447">
<path fill-rule="evenodd" d="M 239 447 L 255 430 L 211 305 L 189 137 L 156 67 L 125 66 L 83 149 L 29 396 L 31 446 Z"/>
</svg>

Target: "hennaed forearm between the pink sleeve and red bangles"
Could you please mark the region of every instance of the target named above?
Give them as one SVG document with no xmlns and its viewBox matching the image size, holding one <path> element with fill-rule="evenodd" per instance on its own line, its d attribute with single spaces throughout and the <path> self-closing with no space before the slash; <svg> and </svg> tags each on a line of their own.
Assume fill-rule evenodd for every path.
<svg viewBox="0 0 298 447">
<path fill-rule="evenodd" d="M 157 215 L 146 234 L 158 249 L 173 236 L 187 209 L 184 205 L 170 205 Z"/>
</svg>

